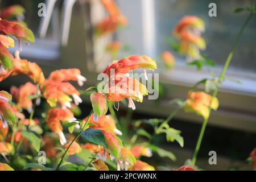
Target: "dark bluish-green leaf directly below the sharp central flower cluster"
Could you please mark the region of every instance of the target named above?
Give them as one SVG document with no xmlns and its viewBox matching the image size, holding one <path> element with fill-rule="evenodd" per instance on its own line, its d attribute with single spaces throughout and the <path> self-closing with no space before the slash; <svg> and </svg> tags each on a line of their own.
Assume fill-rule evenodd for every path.
<svg viewBox="0 0 256 182">
<path fill-rule="evenodd" d="M 106 138 L 101 130 L 98 129 L 86 129 L 82 131 L 81 137 L 88 140 L 88 142 L 99 144 L 103 147 L 108 147 L 108 144 L 106 143 Z"/>
</svg>

